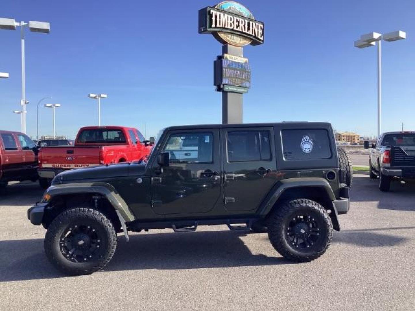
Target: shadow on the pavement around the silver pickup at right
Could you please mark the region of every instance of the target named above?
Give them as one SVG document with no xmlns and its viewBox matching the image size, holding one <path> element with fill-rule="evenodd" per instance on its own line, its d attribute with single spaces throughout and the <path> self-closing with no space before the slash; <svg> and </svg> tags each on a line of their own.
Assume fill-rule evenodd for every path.
<svg viewBox="0 0 415 311">
<path fill-rule="evenodd" d="M 350 191 L 351 202 L 378 201 L 379 209 L 395 211 L 415 211 L 415 184 L 400 184 L 394 180 L 391 191 L 381 192 L 378 188 L 378 179 L 370 179 L 366 175 L 354 175 Z"/>
</svg>

